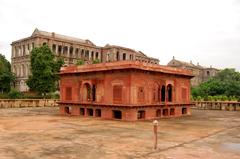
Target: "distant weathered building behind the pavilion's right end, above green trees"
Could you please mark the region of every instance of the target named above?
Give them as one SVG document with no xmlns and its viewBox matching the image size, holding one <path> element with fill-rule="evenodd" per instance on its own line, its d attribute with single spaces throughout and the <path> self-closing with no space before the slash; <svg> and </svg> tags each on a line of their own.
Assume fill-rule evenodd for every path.
<svg viewBox="0 0 240 159">
<path fill-rule="evenodd" d="M 202 82 L 207 81 L 209 78 L 214 77 L 219 72 L 218 69 L 213 68 L 212 66 L 204 67 L 199 65 L 199 63 L 197 65 L 194 65 L 192 61 L 190 61 L 190 63 L 187 63 L 184 61 L 176 60 L 174 57 L 167 65 L 192 71 L 194 77 L 191 79 L 191 85 L 194 87 L 198 86 Z"/>
</svg>

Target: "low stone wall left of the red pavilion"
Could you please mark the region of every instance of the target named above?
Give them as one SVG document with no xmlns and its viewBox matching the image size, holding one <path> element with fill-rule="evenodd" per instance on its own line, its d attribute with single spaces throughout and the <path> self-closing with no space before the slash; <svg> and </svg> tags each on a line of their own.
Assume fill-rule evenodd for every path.
<svg viewBox="0 0 240 159">
<path fill-rule="evenodd" d="M 0 108 L 55 107 L 55 99 L 0 99 Z"/>
</svg>

